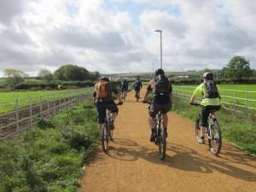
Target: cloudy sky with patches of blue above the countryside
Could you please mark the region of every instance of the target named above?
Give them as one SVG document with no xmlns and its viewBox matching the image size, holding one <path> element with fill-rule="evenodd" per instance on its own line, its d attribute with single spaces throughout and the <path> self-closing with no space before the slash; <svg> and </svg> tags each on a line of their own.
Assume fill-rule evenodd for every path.
<svg viewBox="0 0 256 192">
<path fill-rule="evenodd" d="M 100 73 L 256 68 L 253 0 L 0 0 L 0 77 L 75 64 Z"/>
</svg>

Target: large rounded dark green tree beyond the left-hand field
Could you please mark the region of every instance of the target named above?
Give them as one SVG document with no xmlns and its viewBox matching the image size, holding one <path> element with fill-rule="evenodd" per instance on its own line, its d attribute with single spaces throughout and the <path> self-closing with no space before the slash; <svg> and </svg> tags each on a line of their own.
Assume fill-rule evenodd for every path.
<svg viewBox="0 0 256 192">
<path fill-rule="evenodd" d="M 84 79 L 90 79 L 90 74 L 84 67 L 78 67 L 75 65 L 65 65 L 57 69 L 54 73 L 55 79 L 66 81 L 83 81 Z"/>
</svg>

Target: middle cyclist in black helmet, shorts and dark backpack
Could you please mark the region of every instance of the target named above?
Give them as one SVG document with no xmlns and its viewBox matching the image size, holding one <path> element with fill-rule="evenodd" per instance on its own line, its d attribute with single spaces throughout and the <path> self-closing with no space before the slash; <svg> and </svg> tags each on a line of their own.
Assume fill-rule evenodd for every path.
<svg viewBox="0 0 256 192">
<path fill-rule="evenodd" d="M 166 78 L 163 69 L 157 69 L 154 73 L 154 79 L 148 82 L 147 91 L 143 97 L 143 102 L 147 102 L 148 94 L 153 90 L 153 98 L 148 108 L 148 124 L 151 128 L 150 142 L 154 142 L 156 133 L 154 130 L 155 123 L 154 118 L 156 114 L 161 110 L 163 112 L 163 125 L 165 135 L 167 137 L 167 125 L 168 116 L 167 112 L 172 108 L 172 84 L 169 79 Z"/>
</svg>

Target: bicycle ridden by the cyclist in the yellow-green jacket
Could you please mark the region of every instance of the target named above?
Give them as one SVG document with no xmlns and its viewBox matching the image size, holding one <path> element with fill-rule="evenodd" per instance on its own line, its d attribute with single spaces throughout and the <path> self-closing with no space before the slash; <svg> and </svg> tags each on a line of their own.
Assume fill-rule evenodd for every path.
<svg viewBox="0 0 256 192">
<path fill-rule="evenodd" d="M 193 106 L 201 106 L 200 103 L 190 103 Z M 208 117 L 208 127 L 206 130 L 206 137 L 208 138 L 208 145 L 212 154 L 218 155 L 222 146 L 221 130 L 218 125 L 218 120 L 215 116 L 216 110 L 212 110 Z M 201 113 L 195 119 L 195 138 L 200 139 L 201 132 Z"/>
</svg>

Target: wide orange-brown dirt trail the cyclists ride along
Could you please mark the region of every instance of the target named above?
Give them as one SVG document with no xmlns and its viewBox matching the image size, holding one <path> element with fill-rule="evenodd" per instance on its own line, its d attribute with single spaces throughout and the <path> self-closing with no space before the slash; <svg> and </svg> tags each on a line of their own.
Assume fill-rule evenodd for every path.
<svg viewBox="0 0 256 192">
<path fill-rule="evenodd" d="M 194 124 L 169 113 L 166 160 L 149 142 L 147 105 L 130 92 L 119 107 L 108 154 L 98 148 L 82 178 L 83 192 L 256 192 L 256 158 L 228 142 L 215 157 L 195 143 Z"/>
</svg>

